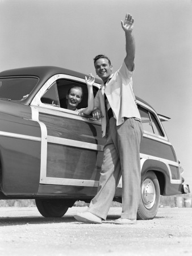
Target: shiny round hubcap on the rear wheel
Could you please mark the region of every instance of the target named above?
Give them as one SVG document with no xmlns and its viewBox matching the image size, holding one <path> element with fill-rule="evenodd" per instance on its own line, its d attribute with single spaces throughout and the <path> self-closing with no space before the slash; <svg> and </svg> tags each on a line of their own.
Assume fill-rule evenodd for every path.
<svg viewBox="0 0 192 256">
<path fill-rule="evenodd" d="M 155 204 L 156 199 L 155 185 L 151 179 L 143 181 L 141 193 L 144 206 L 147 209 L 151 209 Z"/>
</svg>

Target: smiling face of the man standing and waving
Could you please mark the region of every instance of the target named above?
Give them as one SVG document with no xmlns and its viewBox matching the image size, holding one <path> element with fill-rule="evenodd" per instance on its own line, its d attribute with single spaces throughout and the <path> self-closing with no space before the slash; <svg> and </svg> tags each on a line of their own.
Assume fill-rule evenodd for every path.
<svg viewBox="0 0 192 256">
<path fill-rule="evenodd" d="M 112 65 L 108 63 L 107 59 L 98 59 L 95 61 L 95 71 L 96 74 L 103 80 L 103 82 L 106 82 L 108 77 L 111 76 Z"/>
</svg>

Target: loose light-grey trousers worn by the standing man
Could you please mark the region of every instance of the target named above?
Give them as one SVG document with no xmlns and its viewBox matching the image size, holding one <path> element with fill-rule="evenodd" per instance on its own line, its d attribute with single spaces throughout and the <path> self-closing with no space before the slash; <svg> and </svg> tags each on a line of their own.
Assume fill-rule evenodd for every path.
<svg viewBox="0 0 192 256">
<path fill-rule="evenodd" d="M 122 175 L 121 217 L 136 219 L 140 199 L 143 127 L 138 118 L 124 118 L 124 123 L 116 126 L 116 119 L 112 117 L 108 129 L 98 192 L 91 200 L 88 211 L 106 220 Z"/>
</svg>

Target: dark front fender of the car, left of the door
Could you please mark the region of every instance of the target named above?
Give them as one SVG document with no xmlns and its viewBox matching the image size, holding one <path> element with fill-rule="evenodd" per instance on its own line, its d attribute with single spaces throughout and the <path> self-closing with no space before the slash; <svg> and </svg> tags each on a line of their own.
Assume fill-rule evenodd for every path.
<svg viewBox="0 0 192 256">
<path fill-rule="evenodd" d="M 0 112 L 1 191 L 5 195 L 35 195 L 39 188 L 41 129 L 22 107 L 15 115 Z M 20 115 L 20 117 L 19 117 Z"/>
</svg>

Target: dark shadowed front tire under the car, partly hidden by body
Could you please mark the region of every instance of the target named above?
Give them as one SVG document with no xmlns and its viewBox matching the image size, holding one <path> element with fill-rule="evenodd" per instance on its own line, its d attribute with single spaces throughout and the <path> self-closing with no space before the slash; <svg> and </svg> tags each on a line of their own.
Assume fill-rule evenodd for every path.
<svg viewBox="0 0 192 256">
<path fill-rule="evenodd" d="M 62 217 L 76 200 L 35 199 L 36 207 L 44 217 Z"/>
</svg>

